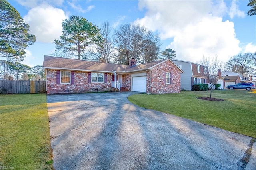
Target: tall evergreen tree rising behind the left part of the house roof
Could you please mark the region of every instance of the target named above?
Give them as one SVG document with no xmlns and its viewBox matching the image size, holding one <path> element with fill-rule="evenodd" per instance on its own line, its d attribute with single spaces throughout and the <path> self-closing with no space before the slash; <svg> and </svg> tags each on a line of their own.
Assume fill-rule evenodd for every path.
<svg viewBox="0 0 256 170">
<path fill-rule="evenodd" d="M 90 48 L 96 48 L 103 42 L 98 26 L 79 16 L 71 16 L 62 22 L 62 35 L 54 40 L 56 50 L 76 55 L 77 59 L 87 59 Z"/>
</svg>

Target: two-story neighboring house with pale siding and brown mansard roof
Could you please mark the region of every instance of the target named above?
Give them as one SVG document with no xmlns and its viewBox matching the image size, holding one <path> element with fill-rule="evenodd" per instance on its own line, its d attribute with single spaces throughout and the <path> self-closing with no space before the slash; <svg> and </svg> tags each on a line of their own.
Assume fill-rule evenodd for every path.
<svg viewBox="0 0 256 170">
<path fill-rule="evenodd" d="M 185 72 L 180 77 L 181 89 L 192 90 L 194 84 L 208 83 L 206 76 L 208 69 L 206 66 L 177 59 L 173 59 L 172 61 Z"/>
</svg>

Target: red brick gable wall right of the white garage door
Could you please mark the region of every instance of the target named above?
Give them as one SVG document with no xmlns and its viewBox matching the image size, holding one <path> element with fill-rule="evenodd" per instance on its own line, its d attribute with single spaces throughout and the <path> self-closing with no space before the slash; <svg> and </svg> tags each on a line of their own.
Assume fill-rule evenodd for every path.
<svg viewBox="0 0 256 170">
<path fill-rule="evenodd" d="M 164 72 L 173 74 L 173 83 L 164 83 Z M 147 78 L 149 73 L 147 73 Z M 147 93 L 149 93 L 149 84 L 147 82 Z M 151 93 L 180 93 L 180 70 L 171 61 L 166 61 L 153 68 L 151 72 Z"/>
</svg>

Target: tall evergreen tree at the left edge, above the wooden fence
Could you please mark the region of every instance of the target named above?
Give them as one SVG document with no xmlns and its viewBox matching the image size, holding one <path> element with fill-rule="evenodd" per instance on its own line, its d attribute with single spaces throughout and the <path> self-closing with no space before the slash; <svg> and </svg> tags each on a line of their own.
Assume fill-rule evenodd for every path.
<svg viewBox="0 0 256 170">
<path fill-rule="evenodd" d="M 0 20 L 0 56 L 23 61 L 24 49 L 34 44 L 36 37 L 28 34 L 28 24 L 6 0 L 0 1 Z"/>
</svg>

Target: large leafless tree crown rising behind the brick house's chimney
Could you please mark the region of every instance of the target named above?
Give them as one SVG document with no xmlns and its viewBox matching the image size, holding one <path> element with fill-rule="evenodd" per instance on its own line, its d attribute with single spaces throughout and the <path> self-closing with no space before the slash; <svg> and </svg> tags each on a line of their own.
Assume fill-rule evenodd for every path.
<svg viewBox="0 0 256 170">
<path fill-rule="evenodd" d="M 137 63 L 146 63 L 158 59 L 160 38 L 143 26 L 124 24 L 115 30 L 114 43 L 118 56 L 116 63 L 129 65 L 131 58 Z"/>
</svg>

